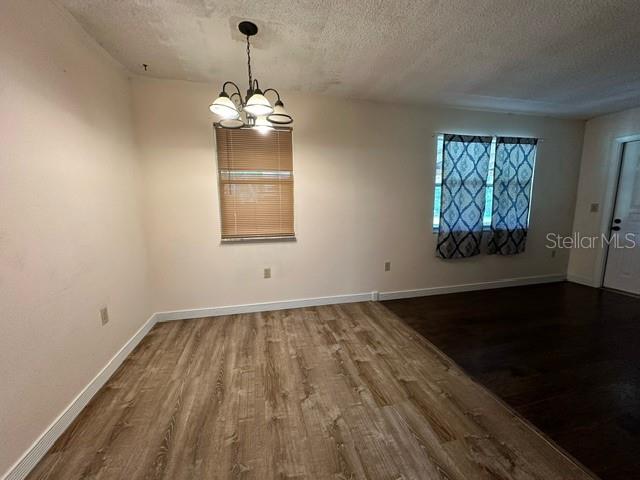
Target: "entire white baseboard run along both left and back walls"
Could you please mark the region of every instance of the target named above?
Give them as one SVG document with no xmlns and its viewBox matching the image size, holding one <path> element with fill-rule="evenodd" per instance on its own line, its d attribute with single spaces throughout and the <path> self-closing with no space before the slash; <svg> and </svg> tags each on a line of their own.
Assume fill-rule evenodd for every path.
<svg viewBox="0 0 640 480">
<path fill-rule="evenodd" d="M 565 275 L 538 275 L 533 277 L 517 277 L 492 282 L 466 283 L 449 285 L 444 287 L 420 288 L 416 290 L 399 290 L 392 292 L 366 292 L 351 295 L 334 295 L 329 297 L 301 298 L 297 300 L 283 300 L 276 302 L 250 303 L 246 305 L 229 305 L 223 307 L 196 308 L 189 310 L 174 310 L 154 313 L 146 323 L 129 339 L 129 341 L 116 353 L 107 365 L 95 376 L 95 378 L 80 392 L 69 404 L 65 411 L 47 428 L 36 440 L 31 448 L 18 460 L 13 467 L 2 477 L 2 480 L 23 480 L 36 466 L 54 442 L 64 433 L 71 422 L 78 416 L 89 400 L 113 375 L 116 369 L 129 356 L 133 349 L 147 335 L 149 330 L 157 322 L 171 320 L 186 320 L 190 318 L 216 317 L 237 313 L 266 312 L 287 308 L 314 307 L 320 305 L 332 305 L 338 303 L 367 302 L 377 300 L 391 300 L 397 298 L 421 297 L 426 295 L 441 295 L 445 293 L 467 292 L 472 290 L 486 290 L 490 288 L 515 287 L 519 285 L 532 285 L 536 283 L 560 282 L 566 279 Z M 570 278 L 571 281 L 572 280 Z M 581 283 L 581 282 L 578 282 Z"/>
</svg>

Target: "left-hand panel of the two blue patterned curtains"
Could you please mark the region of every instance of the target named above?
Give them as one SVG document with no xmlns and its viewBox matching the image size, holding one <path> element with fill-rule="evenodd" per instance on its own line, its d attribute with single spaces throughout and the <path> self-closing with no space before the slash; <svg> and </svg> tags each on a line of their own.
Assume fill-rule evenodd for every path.
<svg viewBox="0 0 640 480">
<path fill-rule="evenodd" d="M 480 253 L 490 148 L 491 137 L 444 136 L 438 257 Z"/>
</svg>

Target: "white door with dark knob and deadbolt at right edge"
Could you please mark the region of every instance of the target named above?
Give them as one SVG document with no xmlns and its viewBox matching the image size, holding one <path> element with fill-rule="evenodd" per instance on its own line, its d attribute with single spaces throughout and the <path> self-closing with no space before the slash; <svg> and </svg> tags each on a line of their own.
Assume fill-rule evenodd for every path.
<svg viewBox="0 0 640 480">
<path fill-rule="evenodd" d="M 604 286 L 640 295 L 640 141 L 624 144 L 610 228 Z"/>
</svg>

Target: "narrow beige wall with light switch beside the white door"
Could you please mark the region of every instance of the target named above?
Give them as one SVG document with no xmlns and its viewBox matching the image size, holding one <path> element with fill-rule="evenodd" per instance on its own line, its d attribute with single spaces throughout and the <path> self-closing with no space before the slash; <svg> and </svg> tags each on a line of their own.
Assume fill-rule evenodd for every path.
<svg viewBox="0 0 640 480">
<path fill-rule="evenodd" d="M 609 231 L 620 162 L 620 142 L 630 140 L 628 137 L 634 135 L 640 135 L 640 108 L 604 115 L 587 122 L 573 222 L 573 230 L 580 235 L 588 237 Z M 599 204 L 598 212 L 590 211 L 592 203 Z M 573 249 L 568 270 L 570 278 L 600 286 L 604 256 L 605 251 L 599 247 Z"/>
</svg>

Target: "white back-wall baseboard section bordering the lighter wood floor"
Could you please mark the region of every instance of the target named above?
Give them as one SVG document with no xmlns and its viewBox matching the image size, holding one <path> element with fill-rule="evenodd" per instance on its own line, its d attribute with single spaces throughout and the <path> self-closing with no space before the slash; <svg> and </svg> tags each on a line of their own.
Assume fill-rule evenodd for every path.
<svg viewBox="0 0 640 480">
<path fill-rule="evenodd" d="M 350 295 L 333 295 L 330 297 L 299 298 L 277 302 L 247 303 L 245 305 L 229 305 L 224 307 L 194 308 L 189 310 L 173 310 L 156 313 L 158 322 L 171 320 L 188 320 L 190 318 L 219 317 L 236 313 L 270 312 L 286 308 L 317 307 L 336 303 L 368 302 L 377 299 L 378 292 L 353 293 Z"/>
</svg>

